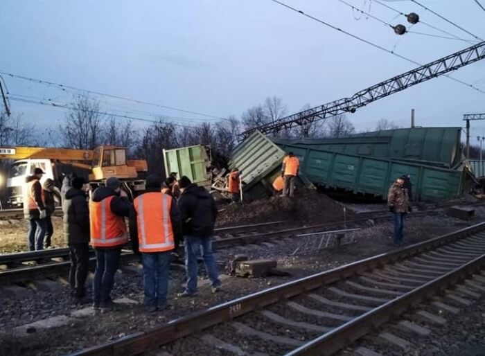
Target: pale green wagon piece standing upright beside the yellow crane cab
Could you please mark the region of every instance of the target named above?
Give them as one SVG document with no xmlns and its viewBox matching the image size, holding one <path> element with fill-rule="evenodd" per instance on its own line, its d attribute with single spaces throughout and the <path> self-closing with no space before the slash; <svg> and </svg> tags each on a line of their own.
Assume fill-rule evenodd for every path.
<svg viewBox="0 0 485 356">
<path fill-rule="evenodd" d="M 211 188 L 211 159 L 203 145 L 163 150 L 163 154 L 167 177 L 177 172 L 179 178 L 185 175 L 193 183 Z"/>
</svg>

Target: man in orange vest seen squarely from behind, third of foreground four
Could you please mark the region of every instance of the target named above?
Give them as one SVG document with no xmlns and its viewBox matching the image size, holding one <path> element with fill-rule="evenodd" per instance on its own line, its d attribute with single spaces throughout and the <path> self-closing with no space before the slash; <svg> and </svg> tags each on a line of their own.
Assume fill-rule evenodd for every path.
<svg viewBox="0 0 485 356">
<path fill-rule="evenodd" d="M 141 253 L 145 307 L 149 312 L 166 308 L 170 252 L 175 249 L 175 241 L 182 238 L 179 208 L 175 199 L 161 193 L 160 187 L 157 176 L 148 176 L 146 191 L 134 199 L 130 213 L 130 237 L 134 251 Z"/>
</svg>

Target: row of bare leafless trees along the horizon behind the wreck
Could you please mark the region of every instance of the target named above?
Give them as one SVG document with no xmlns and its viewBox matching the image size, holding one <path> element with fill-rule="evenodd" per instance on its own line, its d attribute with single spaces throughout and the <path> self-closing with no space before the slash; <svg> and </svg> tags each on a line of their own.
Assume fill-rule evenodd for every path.
<svg viewBox="0 0 485 356">
<path fill-rule="evenodd" d="M 310 108 L 305 105 L 301 110 Z M 225 166 L 231 152 L 240 141 L 240 133 L 254 127 L 273 123 L 288 115 L 288 109 L 281 98 L 266 98 L 263 103 L 250 107 L 241 115 L 229 116 L 215 123 L 181 125 L 160 116 L 143 130 L 134 126 L 133 121 L 102 114 L 96 98 L 78 96 L 71 103 L 58 127 L 51 127 L 45 134 L 37 135 L 35 125 L 28 124 L 22 117 L 0 114 L 0 146 L 41 145 L 46 147 L 69 147 L 91 150 L 98 145 L 116 145 L 127 148 L 130 158 L 148 161 L 150 172 L 163 172 L 163 149 L 188 145 L 210 147 L 213 162 Z M 376 130 L 389 130 L 397 126 L 387 119 L 378 122 Z M 304 127 L 276 132 L 276 136 L 288 138 L 339 138 L 355 133 L 355 127 L 345 115 L 333 116 L 315 121 Z M 42 139 L 39 139 L 42 138 Z"/>
</svg>

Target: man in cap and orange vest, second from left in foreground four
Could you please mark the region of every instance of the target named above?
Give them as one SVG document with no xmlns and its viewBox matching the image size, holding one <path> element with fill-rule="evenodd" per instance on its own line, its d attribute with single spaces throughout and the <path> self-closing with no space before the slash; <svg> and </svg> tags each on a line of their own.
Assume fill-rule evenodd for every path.
<svg viewBox="0 0 485 356">
<path fill-rule="evenodd" d="M 106 185 L 96 188 L 89 201 L 91 245 L 96 251 L 93 281 L 93 308 L 114 310 L 111 291 L 118 269 L 121 247 L 128 242 L 125 217 L 131 204 L 121 197 L 121 182 L 109 177 Z"/>
</svg>

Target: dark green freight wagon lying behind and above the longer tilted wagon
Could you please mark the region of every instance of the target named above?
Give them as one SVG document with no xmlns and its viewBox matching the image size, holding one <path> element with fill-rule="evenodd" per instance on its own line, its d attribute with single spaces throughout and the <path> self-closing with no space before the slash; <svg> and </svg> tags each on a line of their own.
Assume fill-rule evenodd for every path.
<svg viewBox="0 0 485 356">
<path fill-rule="evenodd" d="M 272 139 L 277 145 L 398 159 L 427 166 L 454 168 L 461 157 L 460 127 L 415 127 L 353 134 L 340 139 Z"/>
</svg>

